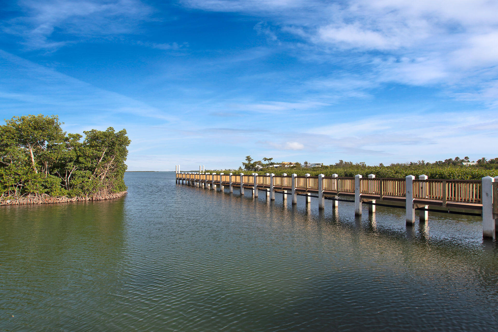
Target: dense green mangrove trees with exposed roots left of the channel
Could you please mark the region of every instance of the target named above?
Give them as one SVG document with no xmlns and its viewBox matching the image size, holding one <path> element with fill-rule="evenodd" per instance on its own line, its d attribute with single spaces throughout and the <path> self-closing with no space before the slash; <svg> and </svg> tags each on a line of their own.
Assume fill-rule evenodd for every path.
<svg viewBox="0 0 498 332">
<path fill-rule="evenodd" d="M 56 115 L 14 116 L 0 126 L 0 199 L 92 197 L 126 190 L 126 130 L 66 134 Z"/>
</svg>

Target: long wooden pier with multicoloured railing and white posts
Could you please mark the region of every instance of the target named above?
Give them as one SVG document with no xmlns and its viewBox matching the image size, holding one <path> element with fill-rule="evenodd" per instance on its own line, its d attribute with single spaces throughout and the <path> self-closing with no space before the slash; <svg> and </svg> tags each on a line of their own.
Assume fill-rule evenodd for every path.
<svg viewBox="0 0 498 332">
<path fill-rule="evenodd" d="M 176 183 L 189 186 L 217 189 L 223 191 L 239 188 L 241 195 L 245 190 L 257 197 L 258 191 L 264 191 L 266 198 L 275 199 L 281 194 L 286 200 L 289 195 L 292 204 L 297 203 L 297 196 L 304 196 L 305 202 L 311 198 L 318 199 L 318 208 L 325 208 L 325 200 L 332 200 L 332 207 L 338 208 L 339 202 L 355 203 L 355 215 L 362 214 L 362 204 L 369 205 L 369 213 L 375 213 L 375 206 L 389 206 L 406 210 L 406 223 L 415 223 L 415 211 L 419 211 L 419 221 L 427 222 L 428 212 L 453 213 L 482 216 L 483 236 L 495 237 L 498 222 L 498 177 L 485 177 L 482 180 L 433 180 L 420 175 L 405 179 L 368 178 L 357 175 L 354 178 L 332 176 L 297 176 L 282 174 L 276 176 L 253 174 L 216 174 L 216 173 L 180 173 L 177 167 Z M 354 197 L 354 200 L 348 200 Z M 382 203 L 380 203 L 382 202 Z M 391 203 L 391 204 L 389 204 Z M 432 208 L 431 208 L 432 207 Z M 497 220 L 496 220 L 497 219 Z"/>
</svg>

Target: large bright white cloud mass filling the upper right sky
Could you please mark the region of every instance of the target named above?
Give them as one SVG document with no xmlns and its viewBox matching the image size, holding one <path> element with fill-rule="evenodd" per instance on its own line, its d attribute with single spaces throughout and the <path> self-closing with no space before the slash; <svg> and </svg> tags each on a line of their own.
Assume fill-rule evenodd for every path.
<svg viewBox="0 0 498 332">
<path fill-rule="evenodd" d="M 303 61 L 329 61 L 362 72 L 373 86 L 439 85 L 450 96 L 486 88 L 498 77 L 498 1 L 189 0 L 187 5 L 258 15 Z M 273 25 L 273 26 L 272 26 Z M 303 43 L 306 41 L 306 44 Z M 355 68 L 356 67 L 356 68 Z M 317 79 L 319 80 L 319 79 Z M 365 92 L 366 89 L 361 92 Z M 368 96 L 365 93 L 365 97 Z M 489 92 L 474 92 L 486 105 Z M 498 100 L 497 100 L 498 101 Z"/>
</svg>

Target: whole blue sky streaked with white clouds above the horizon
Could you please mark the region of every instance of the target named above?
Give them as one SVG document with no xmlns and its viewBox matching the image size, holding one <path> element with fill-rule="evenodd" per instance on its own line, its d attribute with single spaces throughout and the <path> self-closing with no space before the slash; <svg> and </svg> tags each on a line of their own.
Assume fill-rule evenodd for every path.
<svg viewBox="0 0 498 332">
<path fill-rule="evenodd" d="M 498 156 L 498 1 L 4 0 L 0 112 L 129 170 Z"/>
</svg>

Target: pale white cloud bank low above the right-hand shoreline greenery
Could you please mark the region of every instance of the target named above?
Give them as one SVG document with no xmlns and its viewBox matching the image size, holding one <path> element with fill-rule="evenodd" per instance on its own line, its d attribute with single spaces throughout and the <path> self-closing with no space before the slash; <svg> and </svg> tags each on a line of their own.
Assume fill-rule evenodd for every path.
<svg viewBox="0 0 498 332">
<path fill-rule="evenodd" d="M 443 155 L 493 155 L 498 145 L 494 112 L 441 112 L 386 114 L 360 120 L 318 126 L 307 130 L 308 139 L 335 153 L 367 160 L 382 153 L 389 159 L 414 160 L 414 156 L 438 160 Z M 478 144 L 478 142 L 486 142 Z M 479 157 L 480 158 L 480 157 Z"/>
</svg>

